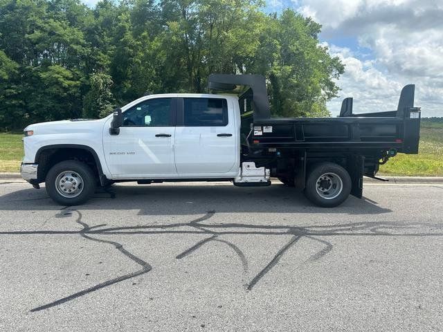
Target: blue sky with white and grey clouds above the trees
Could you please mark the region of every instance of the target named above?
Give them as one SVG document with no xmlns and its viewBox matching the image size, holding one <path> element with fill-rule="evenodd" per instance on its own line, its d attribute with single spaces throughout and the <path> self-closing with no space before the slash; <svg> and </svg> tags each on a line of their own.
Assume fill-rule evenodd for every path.
<svg viewBox="0 0 443 332">
<path fill-rule="evenodd" d="M 320 43 L 345 64 L 333 116 L 346 97 L 354 113 L 392 111 L 415 84 L 422 117 L 443 117 L 443 0 L 266 0 L 267 12 L 284 8 L 321 24 Z"/>
</svg>

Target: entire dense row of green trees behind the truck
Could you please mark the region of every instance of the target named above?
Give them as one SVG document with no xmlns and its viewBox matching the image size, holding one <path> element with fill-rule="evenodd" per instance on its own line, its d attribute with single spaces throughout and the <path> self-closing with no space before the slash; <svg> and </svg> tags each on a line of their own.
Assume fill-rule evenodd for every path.
<svg viewBox="0 0 443 332">
<path fill-rule="evenodd" d="M 266 76 L 275 116 L 327 116 L 343 64 L 320 25 L 260 0 L 0 0 L 0 128 L 109 112 L 145 93 Z"/>
</svg>

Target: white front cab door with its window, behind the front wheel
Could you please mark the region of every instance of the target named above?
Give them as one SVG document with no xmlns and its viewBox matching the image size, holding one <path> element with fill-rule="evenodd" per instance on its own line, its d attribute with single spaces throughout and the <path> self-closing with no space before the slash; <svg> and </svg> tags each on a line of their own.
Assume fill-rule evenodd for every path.
<svg viewBox="0 0 443 332">
<path fill-rule="evenodd" d="M 176 98 L 143 100 L 123 112 L 118 135 L 103 132 L 109 172 L 118 178 L 175 176 L 174 107 Z"/>
</svg>

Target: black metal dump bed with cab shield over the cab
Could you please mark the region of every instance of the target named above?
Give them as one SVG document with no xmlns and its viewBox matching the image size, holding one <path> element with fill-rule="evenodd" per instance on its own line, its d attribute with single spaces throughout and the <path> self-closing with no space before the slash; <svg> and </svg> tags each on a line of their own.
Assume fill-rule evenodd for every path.
<svg viewBox="0 0 443 332">
<path fill-rule="evenodd" d="M 418 153 L 420 111 L 414 107 L 413 84 L 403 88 L 395 111 L 354 114 L 352 98 L 346 98 L 337 118 L 271 118 L 266 82 L 261 75 L 210 75 L 209 89 L 251 96 L 253 112 L 242 113 L 242 133 L 253 147 L 394 148 L 405 154 Z"/>
</svg>

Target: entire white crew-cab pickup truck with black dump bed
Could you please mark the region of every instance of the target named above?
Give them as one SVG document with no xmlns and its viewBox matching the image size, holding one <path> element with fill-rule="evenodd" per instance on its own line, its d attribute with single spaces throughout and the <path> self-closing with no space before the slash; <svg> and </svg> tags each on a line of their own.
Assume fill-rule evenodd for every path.
<svg viewBox="0 0 443 332">
<path fill-rule="evenodd" d="M 407 147 L 399 131 L 415 120 L 409 116 L 413 105 L 407 105 L 408 116 L 383 115 L 383 124 L 380 118 L 352 114 L 273 119 L 263 77 L 211 75 L 210 82 L 215 90 L 234 91 L 240 98 L 147 95 L 100 120 L 31 124 L 24 129 L 21 174 L 36 188 L 45 182 L 48 195 L 62 205 L 84 203 L 97 186 L 115 182 L 270 185 L 270 177 L 277 176 L 289 187 L 304 189 L 314 203 L 331 207 L 350 193 L 361 197 L 361 178 L 375 177 L 379 160 L 402 150 L 417 153 L 418 129 L 408 133 L 415 136 Z M 239 93 L 241 84 L 252 88 Z M 351 130 L 356 124 L 365 132 L 357 139 Z M 377 125 L 381 131 L 374 130 Z"/>
</svg>

